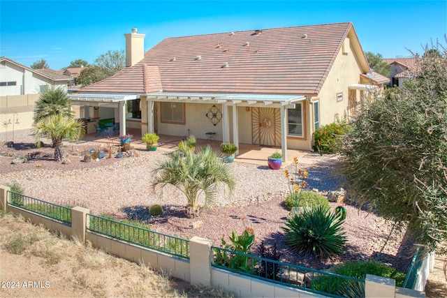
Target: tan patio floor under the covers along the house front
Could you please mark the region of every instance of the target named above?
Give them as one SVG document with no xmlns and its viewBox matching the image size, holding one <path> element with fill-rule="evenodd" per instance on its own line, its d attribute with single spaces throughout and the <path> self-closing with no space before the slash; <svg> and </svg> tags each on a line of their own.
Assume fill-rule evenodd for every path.
<svg viewBox="0 0 447 298">
<path fill-rule="evenodd" d="M 138 129 L 132 129 L 128 128 L 128 133 L 133 135 L 132 138 L 132 145 L 135 147 L 135 149 L 146 149 L 146 143 L 142 142 L 141 140 L 141 133 Z M 176 135 L 159 135 L 159 147 L 157 150 L 161 151 L 174 151 L 177 149 L 177 145 L 182 140 L 182 137 L 176 136 Z M 210 141 L 205 139 L 199 139 L 197 140 L 197 147 L 203 147 L 205 145 L 210 145 L 212 149 L 215 149 L 217 151 L 220 151 L 221 141 Z M 79 141 L 79 143 L 82 142 L 94 142 L 98 144 L 106 145 L 108 142 L 114 142 L 115 146 L 119 145 L 119 139 L 117 136 L 110 136 L 110 139 L 108 137 L 96 137 L 94 133 L 85 135 L 85 137 Z M 251 163 L 254 165 L 261 165 L 267 167 L 267 158 L 268 156 L 272 155 L 275 151 L 281 151 L 281 148 L 279 147 L 262 147 L 256 144 L 239 144 L 239 155 L 235 157 L 236 163 Z M 290 165 L 293 162 L 293 158 L 302 158 L 302 156 L 305 156 L 306 154 L 309 154 L 309 151 L 302 151 L 302 150 L 287 150 L 287 161 L 283 162 L 281 165 L 282 167 L 286 167 Z"/>
</svg>

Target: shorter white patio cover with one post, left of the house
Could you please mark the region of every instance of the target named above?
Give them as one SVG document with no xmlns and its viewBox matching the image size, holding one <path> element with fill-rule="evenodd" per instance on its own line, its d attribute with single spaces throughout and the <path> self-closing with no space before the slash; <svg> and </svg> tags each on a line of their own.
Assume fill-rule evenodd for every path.
<svg viewBox="0 0 447 298">
<path fill-rule="evenodd" d="M 126 134 L 126 101 L 140 98 L 138 94 L 68 94 L 72 105 L 119 108 L 119 134 Z"/>
</svg>

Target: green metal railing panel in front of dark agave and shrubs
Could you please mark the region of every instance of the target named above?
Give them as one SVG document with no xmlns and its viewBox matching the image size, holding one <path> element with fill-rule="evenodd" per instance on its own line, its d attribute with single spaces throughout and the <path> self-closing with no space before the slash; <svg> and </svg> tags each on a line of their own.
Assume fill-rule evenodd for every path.
<svg viewBox="0 0 447 298">
<path fill-rule="evenodd" d="M 365 297 L 365 280 L 212 246 L 214 267 L 327 297 Z"/>
</svg>

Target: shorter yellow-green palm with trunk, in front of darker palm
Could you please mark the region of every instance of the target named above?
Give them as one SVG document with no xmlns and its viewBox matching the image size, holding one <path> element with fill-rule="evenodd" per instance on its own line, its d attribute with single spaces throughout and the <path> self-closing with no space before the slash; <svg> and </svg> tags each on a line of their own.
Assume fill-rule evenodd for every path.
<svg viewBox="0 0 447 298">
<path fill-rule="evenodd" d="M 54 147 L 54 161 L 61 161 L 64 158 L 64 146 L 62 140 L 79 140 L 85 133 L 82 123 L 73 117 L 61 114 L 54 114 L 41 119 L 34 124 L 36 129 L 34 140 L 40 144 L 41 137 L 46 135 L 50 138 Z"/>
</svg>

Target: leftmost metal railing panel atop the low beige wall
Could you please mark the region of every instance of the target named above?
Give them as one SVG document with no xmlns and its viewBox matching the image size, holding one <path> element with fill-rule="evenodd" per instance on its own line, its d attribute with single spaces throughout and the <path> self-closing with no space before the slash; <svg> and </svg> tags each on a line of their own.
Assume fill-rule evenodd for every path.
<svg viewBox="0 0 447 298">
<path fill-rule="evenodd" d="M 71 223 L 70 207 L 52 204 L 50 202 L 38 200 L 36 198 L 22 195 L 22 193 L 15 193 L 13 191 L 8 191 L 7 195 L 10 198 L 8 204 L 12 206 L 20 207 L 36 214 L 41 214 L 43 216 L 56 219 L 57 221 L 61 221 L 63 223 Z"/>
</svg>

